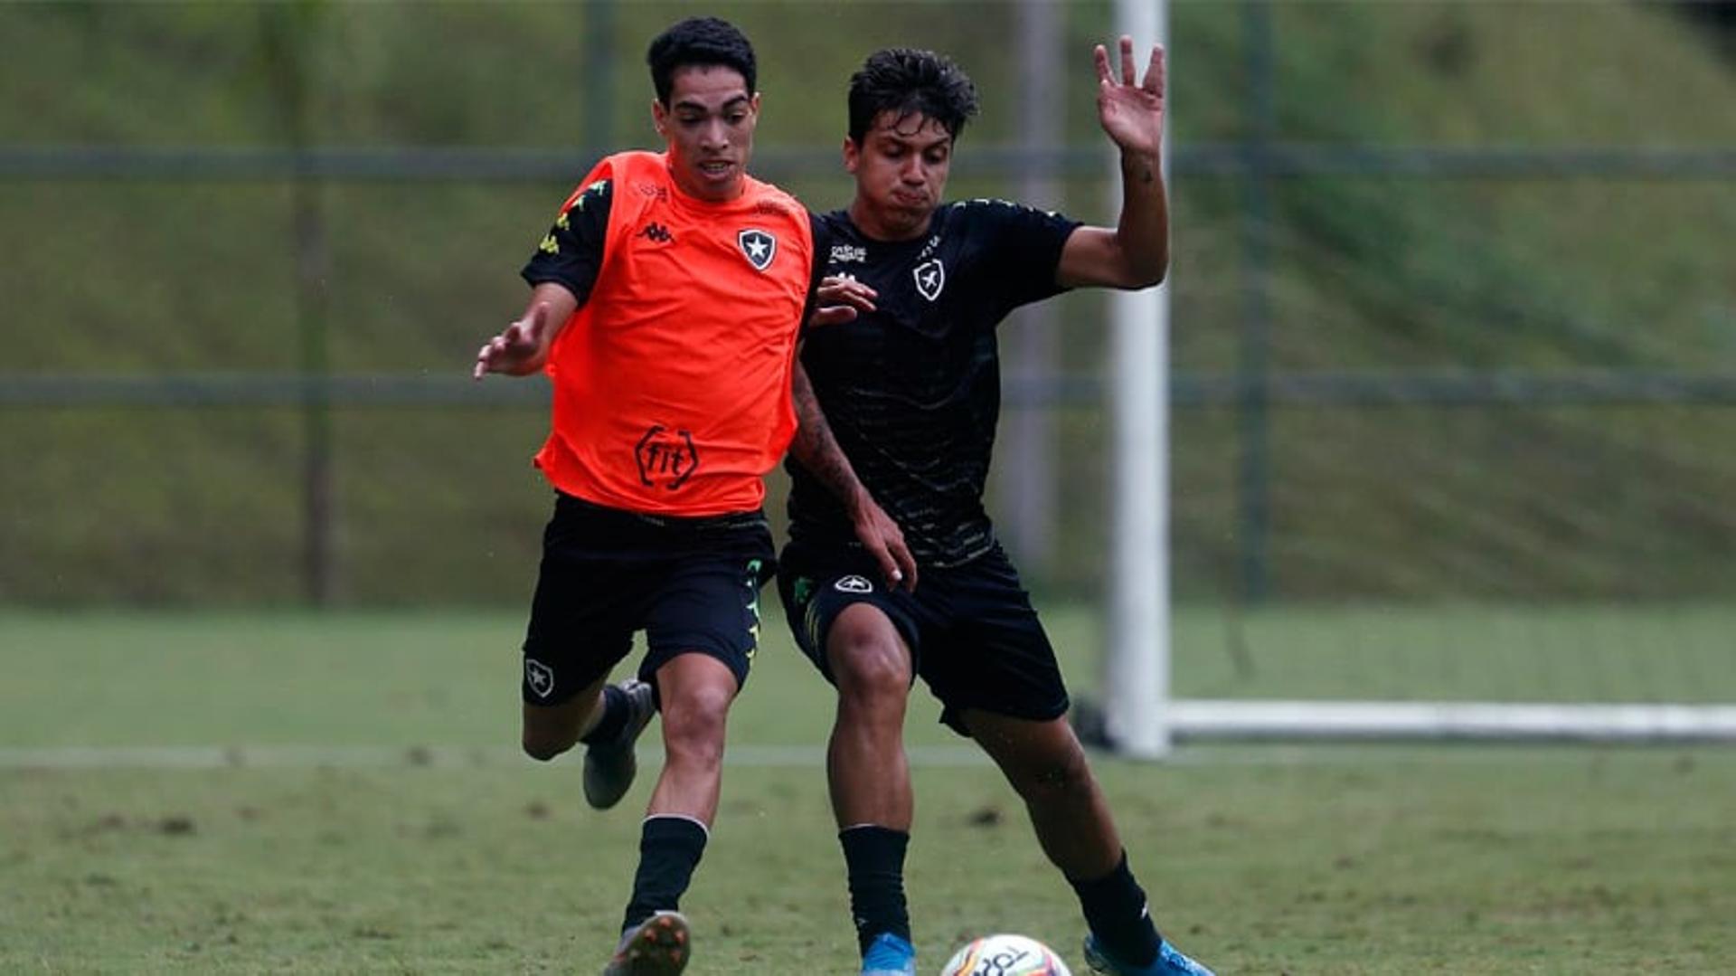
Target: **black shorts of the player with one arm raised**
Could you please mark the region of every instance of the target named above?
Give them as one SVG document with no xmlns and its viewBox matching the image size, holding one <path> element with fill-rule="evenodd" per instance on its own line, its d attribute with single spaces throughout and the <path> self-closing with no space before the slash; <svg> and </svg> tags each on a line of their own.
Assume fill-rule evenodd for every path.
<svg viewBox="0 0 1736 976">
<path fill-rule="evenodd" d="M 963 709 L 1049 721 L 1068 710 L 1055 650 L 1000 545 L 963 566 L 924 568 L 917 592 L 887 590 L 866 551 L 792 542 L 778 594 L 795 643 L 826 681 L 826 632 L 852 603 L 885 613 L 910 646 L 917 676 L 941 700 L 941 721 L 969 735 Z"/>
</svg>

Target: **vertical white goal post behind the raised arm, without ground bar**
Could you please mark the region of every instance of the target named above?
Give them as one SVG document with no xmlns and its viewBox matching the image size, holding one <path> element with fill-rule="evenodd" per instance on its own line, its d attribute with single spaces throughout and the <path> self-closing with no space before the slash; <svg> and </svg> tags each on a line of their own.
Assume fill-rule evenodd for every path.
<svg viewBox="0 0 1736 976">
<path fill-rule="evenodd" d="M 1115 36 L 1134 38 L 1144 76 L 1151 43 L 1168 42 L 1167 0 L 1116 0 Z M 1106 38 L 1120 73 L 1115 36 Z M 1170 85 L 1165 92 L 1174 90 Z M 1168 106 L 1165 106 L 1165 116 Z M 1163 141 L 1168 170 L 1168 137 Z M 1120 208 L 1121 167 L 1111 170 Z M 1113 471 L 1109 521 L 1109 662 L 1104 722 L 1115 748 L 1137 759 L 1170 750 L 1170 575 L 1168 575 L 1168 285 L 1109 295 Z"/>
</svg>

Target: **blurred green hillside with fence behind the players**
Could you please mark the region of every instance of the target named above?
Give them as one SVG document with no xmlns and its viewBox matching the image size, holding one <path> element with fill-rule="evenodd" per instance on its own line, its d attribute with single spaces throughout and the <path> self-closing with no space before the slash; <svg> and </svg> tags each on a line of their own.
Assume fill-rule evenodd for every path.
<svg viewBox="0 0 1736 976">
<path fill-rule="evenodd" d="M 1170 5 L 1180 599 L 1736 592 L 1719 10 Z M 644 45 L 689 12 L 0 5 L 0 603 L 523 603 L 542 380 L 469 363 L 571 184 L 654 146 Z M 951 196 L 1113 221 L 1109 3 L 703 12 L 811 207 L 899 43 L 983 92 Z M 1047 592 L 1102 584 L 1106 332 L 1078 293 L 1003 333 L 995 511 Z"/>
</svg>

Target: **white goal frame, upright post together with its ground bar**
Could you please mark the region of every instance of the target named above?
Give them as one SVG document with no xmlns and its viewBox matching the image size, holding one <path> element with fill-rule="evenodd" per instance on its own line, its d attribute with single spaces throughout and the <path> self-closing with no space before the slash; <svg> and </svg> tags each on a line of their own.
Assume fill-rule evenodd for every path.
<svg viewBox="0 0 1736 976">
<path fill-rule="evenodd" d="M 1153 40 L 1167 43 L 1167 2 L 1116 0 L 1115 33 L 1130 35 L 1135 50 Z M 1109 205 L 1118 208 L 1120 168 L 1113 174 Z M 1729 705 L 1172 698 L 1168 285 L 1111 295 L 1111 318 L 1102 733 L 1118 754 L 1160 759 L 1182 738 L 1736 742 L 1736 707 Z"/>
</svg>

